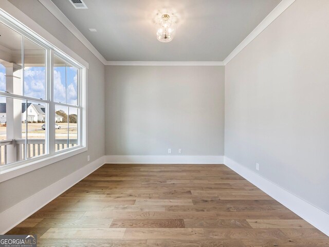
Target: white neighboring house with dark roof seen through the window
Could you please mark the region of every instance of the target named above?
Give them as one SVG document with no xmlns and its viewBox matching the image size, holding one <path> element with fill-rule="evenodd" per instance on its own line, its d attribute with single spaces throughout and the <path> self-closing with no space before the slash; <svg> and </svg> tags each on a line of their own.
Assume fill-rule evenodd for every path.
<svg viewBox="0 0 329 247">
<path fill-rule="evenodd" d="M 22 122 L 26 120 L 28 122 L 45 122 L 46 121 L 46 110 L 45 107 L 39 104 L 27 104 L 27 119 L 26 119 L 26 103 L 22 103 Z M 6 123 L 6 103 L 0 103 L 0 123 Z M 55 121 L 62 122 L 63 117 L 55 114 Z"/>
</svg>

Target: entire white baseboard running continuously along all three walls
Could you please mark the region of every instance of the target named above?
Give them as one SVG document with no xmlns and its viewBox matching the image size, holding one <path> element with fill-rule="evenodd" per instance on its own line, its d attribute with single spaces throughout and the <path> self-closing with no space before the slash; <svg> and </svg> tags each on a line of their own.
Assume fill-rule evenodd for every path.
<svg viewBox="0 0 329 247">
<path fill-rule="evenodd" d="M 0 234 L 5 234 L 68 188 L 78 183 L 104 163 L 116 164 L 225 164 L 234 172 L 259 187 L 301 218 L 329 236 L 329 214 L 291 194 L 279 185 L 224 156 L 103 156 L 67 177 L 0 213 Z"/>
</svg>

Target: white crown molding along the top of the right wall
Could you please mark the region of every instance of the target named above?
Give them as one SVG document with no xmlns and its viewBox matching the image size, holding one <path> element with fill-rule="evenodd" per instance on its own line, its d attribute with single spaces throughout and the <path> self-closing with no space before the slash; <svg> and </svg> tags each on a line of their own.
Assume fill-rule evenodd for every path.
<svg viewBox="0 0 329 247">
<path fill-rule="evenodd" d="M 253 41 L 261 32 L 263 32 L 273 21 L 276 20 L 291 4 L 296 0 L 282 0 L 264 20 L 252 30 L 252 32 L 244 39 L 224 60 L 224 65 L 227 65 L 237 54 L 240 53 L 251 41 Z"/>
</svg>

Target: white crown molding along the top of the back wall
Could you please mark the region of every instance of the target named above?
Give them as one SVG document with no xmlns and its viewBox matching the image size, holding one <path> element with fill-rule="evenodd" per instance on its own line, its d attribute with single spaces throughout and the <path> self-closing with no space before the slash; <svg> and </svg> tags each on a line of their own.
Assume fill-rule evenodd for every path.
<svg viewBox="0 0 329 247">
<path fill-rule="evenodd" d="M 112 66 L 224 66 L 216 61 L 107 61 Z"/>
</svg>

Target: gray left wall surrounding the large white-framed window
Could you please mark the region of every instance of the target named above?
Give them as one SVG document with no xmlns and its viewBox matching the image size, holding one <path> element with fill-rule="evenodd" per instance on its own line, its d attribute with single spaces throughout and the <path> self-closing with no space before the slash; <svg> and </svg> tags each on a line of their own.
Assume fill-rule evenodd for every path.
<svg viewBox="0 0 329 247">
<path fill-rule="evenodd" d="M 89 63 L 88 151 L 0 183 L 0 212 L 104 155 L 104 65 L 38 1 L 10 0 Z M 28 2 L 28 3 L 27 3 Z M 88 162 L 89 163 L 89 162 Z"/>
</svg>

